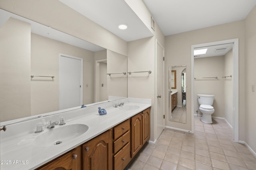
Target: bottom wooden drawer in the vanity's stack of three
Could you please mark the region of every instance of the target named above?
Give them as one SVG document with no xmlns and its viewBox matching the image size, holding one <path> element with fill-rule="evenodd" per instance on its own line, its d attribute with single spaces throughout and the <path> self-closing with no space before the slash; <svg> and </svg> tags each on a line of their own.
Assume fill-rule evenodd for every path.
<svg viewBox="0 0 256 170">
<path fill-rule="evenodd" d="M 114 155 L 114 170 L 123 170 L 130 162 L 130 142 L 127 143 L 117 154 Z"/>
</svg>

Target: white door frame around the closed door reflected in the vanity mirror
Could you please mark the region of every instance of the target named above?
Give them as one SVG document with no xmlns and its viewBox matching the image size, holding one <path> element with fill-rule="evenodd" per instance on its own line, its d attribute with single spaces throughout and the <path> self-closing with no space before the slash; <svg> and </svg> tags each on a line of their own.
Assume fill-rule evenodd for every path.
<svg viewBox="0 0 256 170">
<path fill-rule="evenodd" d="M 61 106 L 61 96 L 60 96 L 60 89 L 61 89 L 61 85 L 60 85 L 60 58 L 61 57 L 68 57 L 68 58 L 71 58 L 71 59 L 76 59 L 76 60 L 80 60 L 81 62 L 81 77 L 80 77 L 80 82 L 81 82 L 81 88 L 80 88 L 80 105 L 83 104 L 83 98 L 84 98 L 84 90 L 83 90 L 83 87 L 84 87 L 84 59 L 82 58 L 79 58 L 79 57 L 74 57 L 74 56 L 71 56 L 71 55 L 66 55 L 66 54 L 62 54 L 60 53 L 59 54 L 59 108 Z"/>
</svg>

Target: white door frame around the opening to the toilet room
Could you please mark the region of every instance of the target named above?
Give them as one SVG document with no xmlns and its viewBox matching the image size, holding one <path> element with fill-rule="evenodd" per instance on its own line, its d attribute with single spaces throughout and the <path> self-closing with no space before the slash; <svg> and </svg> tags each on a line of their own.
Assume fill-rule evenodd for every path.
<svg viewBox="0 0 256 170">
<path fill-rule="evenodd" d="M 194 48 L 233 43 L 233 135 L 234 141 L 239 142 L 239 45 L 238 38 L 191 45 L 191 130 L 194 133 Z"/>
</svg>

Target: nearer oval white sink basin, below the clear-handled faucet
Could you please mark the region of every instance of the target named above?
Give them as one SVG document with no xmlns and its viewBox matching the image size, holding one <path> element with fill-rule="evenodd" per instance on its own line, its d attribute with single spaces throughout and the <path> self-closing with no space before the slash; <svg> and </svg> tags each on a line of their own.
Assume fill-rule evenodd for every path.
<svg viewBox="0 0 256 170">
<path fill-rule="evenodd" d="M 84 134 L 88 129 L 89 127 L 84 124 L 56 125 L 53 129 L 37 136 L 34 144 L 38 147 L 59 145 Z"/>
</svg>

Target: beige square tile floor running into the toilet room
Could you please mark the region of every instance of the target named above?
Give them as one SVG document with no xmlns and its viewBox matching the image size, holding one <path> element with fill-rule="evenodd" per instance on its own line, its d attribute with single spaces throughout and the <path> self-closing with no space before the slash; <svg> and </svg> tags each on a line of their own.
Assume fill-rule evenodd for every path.
<svg viewBox="0 0 256 170">
<path fill-rule="evenodd" d="M 232 141 L 222 119 L 205 124 L 195 117 L 195 133 L 164 129 L 156 144 L 147 143 L 126 170 L 256 170 L 256 157 Z"/>
</svg>

